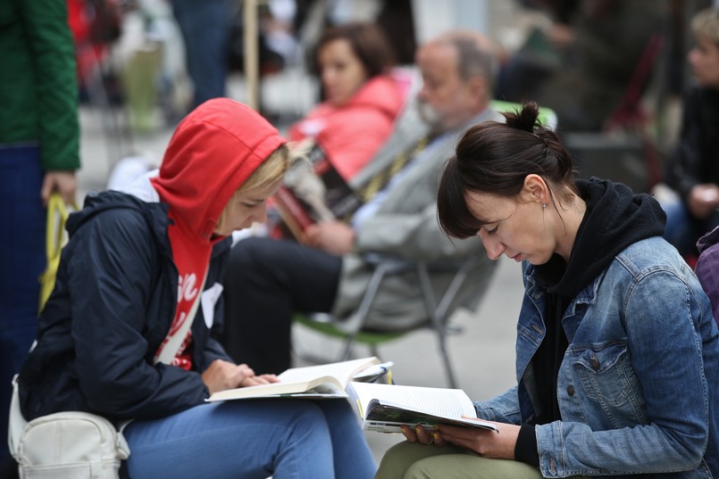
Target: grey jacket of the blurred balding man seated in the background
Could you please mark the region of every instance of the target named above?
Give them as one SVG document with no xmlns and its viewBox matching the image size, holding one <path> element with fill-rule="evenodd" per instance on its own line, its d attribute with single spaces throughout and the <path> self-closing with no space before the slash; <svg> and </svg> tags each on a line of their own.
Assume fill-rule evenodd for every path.
<svg viewBox="0 0 719 479">
<path fill-rule="evenodd" d="M 357 178 L 355 185 L 365 181 L 371 175 L 372 169 L 380 168 L 381 164 L 391 161 L 403 148 L 414 146 L 417 139 L 426 133 L 427 128 L 419 118 L 413 120 L 417 122 L 414 128 L 410 120 L 400 122 L 397 131 L 390 136 L 376 160 Z M 379 211 L 364 221 L 356 232 L 357 253 L 346 254 L 342 258 L 339 292 L 332 310 L 335 318 L 347 318 L 356 310 L 367 289 L 372 268 L 368 268 L 364 263 L 361 256 L 364 252 L 382 252 L 401 258 L 423 260 L 479 255 L 482 258 L 481 268 L 467 278 L 453 304 L 453 308 L 461 305 L 473 310 L 477 307 L 496 263 L 487 258 L 478 237 L 462 241 L 452 240 L 440 230 L 437 220 L 437 192 L 441 169 L 447 158 L 454 154 L 459 137 L 470 126 L 485 120 L 502 121 L 504 118 L 497 111 L 485 110 L 462 127 L 436 137 L 425 148 L 422 161 L 393 187 Z M 432 284 L 438 295 L 444 292 L 451 277 L 451 274 L 432 276 Z M 418 280 L 414 274 L 388 278 L 378 293 L 367 326 L 380 330 L 396 330 L 422 323 L 427 319 L 422 301 Z"/>
</svg>

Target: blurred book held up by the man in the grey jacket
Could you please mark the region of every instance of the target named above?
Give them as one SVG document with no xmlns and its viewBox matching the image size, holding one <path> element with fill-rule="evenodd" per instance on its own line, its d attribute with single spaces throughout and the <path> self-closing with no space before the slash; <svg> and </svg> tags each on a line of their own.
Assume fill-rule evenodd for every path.
<svg viewBox="0 0 719 479">
<path fill-rule="evenodd" d="M 321 221 L 347 219 L 362 204 L 322 148 L 314 144 L 285 175 L 274 202 L 297 241 L 304 243 L 307 227 Z"/>
</svg>

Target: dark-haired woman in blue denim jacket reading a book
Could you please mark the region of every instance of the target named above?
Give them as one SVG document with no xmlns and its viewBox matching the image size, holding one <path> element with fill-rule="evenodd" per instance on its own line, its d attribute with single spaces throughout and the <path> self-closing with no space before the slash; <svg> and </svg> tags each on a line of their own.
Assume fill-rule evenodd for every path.
<svg viewBox="0 0 719 479">
<path fill-rule="evenodd" d="M 449 235 L 523 262 L 518 385 L 475 403 L 499 434 L 406 428 L 376 477 L 719 477 L 719 331 L 664 213 L 573 178 L 536 104 L 506 120 L 464 135 L 438 208 Z"/>
</svg>

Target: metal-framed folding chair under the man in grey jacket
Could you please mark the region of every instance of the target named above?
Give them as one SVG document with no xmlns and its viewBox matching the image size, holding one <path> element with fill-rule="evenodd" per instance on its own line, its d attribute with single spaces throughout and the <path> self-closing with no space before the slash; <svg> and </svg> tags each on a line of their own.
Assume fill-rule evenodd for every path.
<svg viewBox="0 0 719 479">
<path fill-rule="evenodd" d="M 342 349 L 338 357 L 334 359 L 337 361 L 349 359 L 357 343 L 369 346 L 372 354 L 379 356 L 377 351 L 379 344 L 397 340 L 405 334 L 418 329 L 430 329 L 436 335 L 439 343 L 439 352 L 447 373 L 449 387 L 456 388 L 458 387 L 456 376 L 447 354 L 446 339 L 448 333 L 458 332 L 459 329 L 448 325 L 448 319 L 456 309 L 454 300 L 464 284 L 464 280 L 475 268 L 481 266 L 480 255 L 481 252 L 477 252 L 472 256 L 456 261 L 414 261 L 392 258 L 378 253 L 367 254 L 365 255 L 365 261 L 370 268 L 373 268 L 373 273 L 362 301 L 352 316 L 344 321 L 333 321 L 328 319 L 327 315 L 304 315 L 298 313 L 295 315 L 295 321 L 319 333 L 341 339 L 343 341 Z M 366 329 L 364 325 L 372 311 L 372 305 L 377 293 L 380 291 L 382 281 L 388 277 L 413 272 L 419 279 L 422 299 L 427 310 L 427 321 L 401 331 L 372 331 Z M 454 274 L 447 289 L 441 294 L 439 301 L 431 284 L 431 275 L 438 273 Z M 323 361 L 323 359 L 317 358 L 304 358 Z"/>
</svg>

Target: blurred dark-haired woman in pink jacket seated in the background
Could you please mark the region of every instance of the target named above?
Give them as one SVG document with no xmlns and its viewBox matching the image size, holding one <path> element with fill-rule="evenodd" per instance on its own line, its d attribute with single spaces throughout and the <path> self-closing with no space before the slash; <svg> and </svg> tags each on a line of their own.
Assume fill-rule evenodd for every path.
<svg viewBox="0 0 719 479">
<path fill-rule="evenodd" d="M 324 101 L 289 128 L 292 140 L 314 138 L 346 181 L 387 140 L 405 103 L 407 81 L 393 74 L 394 54 L 372 23 L 327 29 L 315 49 Z"/>
</svg>

